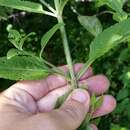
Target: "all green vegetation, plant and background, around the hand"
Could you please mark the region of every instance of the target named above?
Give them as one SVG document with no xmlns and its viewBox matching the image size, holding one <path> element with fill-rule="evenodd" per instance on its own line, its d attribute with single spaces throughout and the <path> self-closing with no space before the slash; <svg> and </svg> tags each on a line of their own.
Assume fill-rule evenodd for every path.
<svg viewBox="0 0 130 130">
<path fill-rule="evenodd" d="M 1 91 L 11 80 L 36 80 L 52 73 L 64 76 L 75 89 L 92 65 L 95 73 L 108 76 L 109 93 L 118 101 L 111 115 L 96 120 L 99 129 L 129 130 L 129 7 L 128 0 L 0 0 Z M 66 61 L 68 75 L 56 67 Z M 85 65 L 75 75 L 72 66 L 77 62 Z M 102 97 L 96 102 L 92 96 L 92 102 L 96 109 Z M 79 130 L 89 129 L 89 120 Z"/>
</svg>

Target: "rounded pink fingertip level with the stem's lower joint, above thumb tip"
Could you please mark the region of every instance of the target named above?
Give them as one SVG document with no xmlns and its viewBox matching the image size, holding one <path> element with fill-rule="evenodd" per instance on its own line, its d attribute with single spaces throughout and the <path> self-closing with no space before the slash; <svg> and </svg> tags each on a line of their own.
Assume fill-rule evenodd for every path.
<svg viewBox="0 0 130 130">
<path fill-rule="evenodd" d="M 101 95 L 106 92 L 110 86 L 110 82 L 104 75 L 92 76 L 88 79 L 82 80 L 80 85 L 86 85 L 90 93 Z"/>
</svg>

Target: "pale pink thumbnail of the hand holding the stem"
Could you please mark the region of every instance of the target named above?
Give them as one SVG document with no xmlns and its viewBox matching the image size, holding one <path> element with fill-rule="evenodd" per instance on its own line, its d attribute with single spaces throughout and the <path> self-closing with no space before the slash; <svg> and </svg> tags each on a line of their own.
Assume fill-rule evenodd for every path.
<svg viewBox="0 0 130 130">
<path fill-rule="evenodd" d="M 85 94 L 85 92 L 83 90 L 76 90 L 73 94 L 72 94 L 72 99 L 76 100 L 80 103 L 84 103 L 87 100 L 87 96 Z"/>
</svg>

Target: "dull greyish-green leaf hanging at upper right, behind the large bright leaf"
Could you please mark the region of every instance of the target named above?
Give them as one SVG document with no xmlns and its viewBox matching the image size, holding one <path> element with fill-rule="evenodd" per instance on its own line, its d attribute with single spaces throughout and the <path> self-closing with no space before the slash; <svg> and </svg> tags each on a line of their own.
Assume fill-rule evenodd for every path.
<svg viewBox="0 0 130 130">
<path fill-rule="evenodd" d="M 78 20 L 79 20 L 80 24 L 95 37 L 98 34 L 100 34 L 103 30 L 99 19 L 95 15 L 94 16 L 79 15 Z"/>
</svg>

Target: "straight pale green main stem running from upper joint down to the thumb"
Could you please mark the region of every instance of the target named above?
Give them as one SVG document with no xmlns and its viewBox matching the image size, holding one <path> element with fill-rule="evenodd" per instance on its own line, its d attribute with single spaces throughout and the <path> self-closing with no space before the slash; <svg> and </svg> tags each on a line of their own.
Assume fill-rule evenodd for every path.
<svg viewBox="0 0 130 130">
<path fill-rule="evenodd" d="M 59 23 L 64 23 L 62 16 L 59 15 L 57 17 L 57 19 L 58 19 Z M 71 85 L 72 85 L 73 88 L 77 88 L 78 87 L 77 80 L 76 80 L 76 76 L 75 76 L 75 73 L 74 73 L 73 63 L 72 63 L 70 49 L 69 49 L 69 45 L 68 45 L 68 39 L 67 39 L 66 30 L 65 30 L 64 26 L 62 26 L 60 28 L 60 32 L 61 32 L 61 36 L 62 36 L 66 61 L 67 61 L 70 76 L 71 76 Z"/>
</svg>

